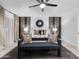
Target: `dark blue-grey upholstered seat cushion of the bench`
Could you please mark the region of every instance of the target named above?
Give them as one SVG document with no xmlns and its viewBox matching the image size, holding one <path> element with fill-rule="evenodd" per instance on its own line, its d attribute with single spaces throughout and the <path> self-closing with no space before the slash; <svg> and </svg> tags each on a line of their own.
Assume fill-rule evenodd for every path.
<svg viewBox="0 0 79 59">
<path fill-rule="evenodd" d="M 25 48 L 27 50 L 29 49 L 59 49 L 60 45 L 56 43 L 42 42 L 42 43 L 25 43 L 25 44 L 21 44 L 19 47 L 22 49 Z"/>
</svg>

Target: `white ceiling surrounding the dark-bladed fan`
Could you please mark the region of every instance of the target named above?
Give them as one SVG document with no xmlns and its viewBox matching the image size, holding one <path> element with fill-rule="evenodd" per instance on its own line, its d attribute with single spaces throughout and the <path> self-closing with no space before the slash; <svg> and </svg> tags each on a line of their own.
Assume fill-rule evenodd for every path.
<svg viewBox="0 0 79 59">
<path fill-rule="evenodd" d="M 49 3 L 58 4 L 58 7 L 46 7 L 44 12 L 41 12 L 40 7 L 28 8 L 37 3 L 36 0 L 0 0 L 5 9 L 19 16 L 52 16 L 79 8 L 79 0 L 50 0 Z"/>
</svg>

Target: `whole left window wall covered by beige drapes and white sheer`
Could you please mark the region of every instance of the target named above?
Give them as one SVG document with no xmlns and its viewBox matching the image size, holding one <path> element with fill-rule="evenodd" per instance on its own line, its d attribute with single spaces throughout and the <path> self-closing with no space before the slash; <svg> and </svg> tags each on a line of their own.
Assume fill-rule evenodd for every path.
<svg viewBox="0 0 79 59">
<path fill-rule="evenodd" d="M 19 20 L 15 14 L 0 9 L 0 49 L 10 47 L 19 37 Z"/>
</svg>

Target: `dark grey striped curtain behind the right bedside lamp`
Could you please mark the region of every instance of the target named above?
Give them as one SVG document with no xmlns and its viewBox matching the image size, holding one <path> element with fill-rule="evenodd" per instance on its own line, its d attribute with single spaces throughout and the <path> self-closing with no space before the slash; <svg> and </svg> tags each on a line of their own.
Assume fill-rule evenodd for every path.
<svg viewBox="0 0 79 59">
<path fill-rule="evenodd" d="M 53 28 L 58 29 L 59 38 L 61 38 L 61 17 L 49 17 L 49 29 L 51 32 Z"/>
</svg>

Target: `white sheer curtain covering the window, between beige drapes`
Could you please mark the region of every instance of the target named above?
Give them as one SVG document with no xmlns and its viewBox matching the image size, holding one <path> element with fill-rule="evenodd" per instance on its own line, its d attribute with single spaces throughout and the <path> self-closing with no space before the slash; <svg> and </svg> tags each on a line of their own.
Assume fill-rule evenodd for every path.
<svg viewBox="0 0 79 59">
<path fill-rule="evenodd" d="M 14 45 L 14 14 L 4 10 L 4 45 Z"/>
</svg>

